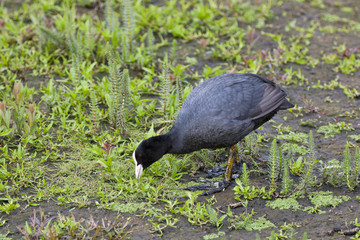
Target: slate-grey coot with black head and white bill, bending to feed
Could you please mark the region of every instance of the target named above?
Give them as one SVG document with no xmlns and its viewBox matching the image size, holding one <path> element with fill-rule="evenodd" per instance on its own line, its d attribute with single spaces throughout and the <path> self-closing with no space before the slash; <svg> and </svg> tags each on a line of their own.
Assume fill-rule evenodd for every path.
<svg viewBox="0 0 360 240">
<path fill-rule="evenodd" d="M 135 176 L 167 153 L 231 147 L 270 120 L 292 108 L 286 93 L 255 74 L 223 74 L 201 83 L 188 95 L 171 130 L 140 143 L 133 153 Z M 226 180 L 231 178 L 232 158 Z"/>
</svg>

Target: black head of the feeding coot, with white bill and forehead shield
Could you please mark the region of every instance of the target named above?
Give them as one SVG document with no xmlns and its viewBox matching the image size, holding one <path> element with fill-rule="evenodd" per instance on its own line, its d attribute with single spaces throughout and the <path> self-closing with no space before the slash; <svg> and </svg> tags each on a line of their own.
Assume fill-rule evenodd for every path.
<svg viewBox="0 0 360 240">
<path fill-rule="evenodd" d="M 135 176 L 139 179 L 147 167 L 159 160 L 167 152 L 164 137 L 157 136 L 146 139 L 133 152 Z"/>
</svg>

